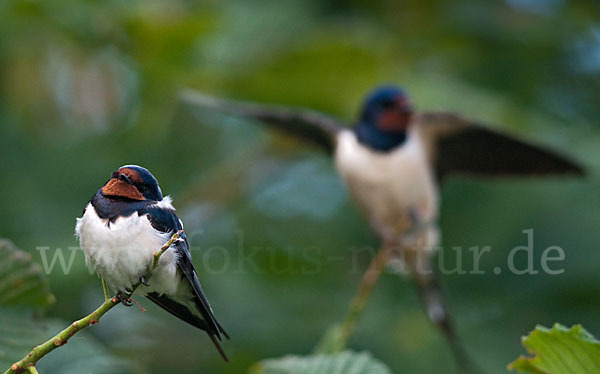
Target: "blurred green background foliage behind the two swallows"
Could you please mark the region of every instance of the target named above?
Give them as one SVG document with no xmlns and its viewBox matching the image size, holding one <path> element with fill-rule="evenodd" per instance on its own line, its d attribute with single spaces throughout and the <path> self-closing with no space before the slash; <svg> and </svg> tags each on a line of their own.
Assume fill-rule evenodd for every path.
<svg viewBox="0 0 600 374">
<path fill-rule="evenodd" d="M 568 0 L 3 0 L 0 237 L 39 263 L 37 247 L 48 256 L 61 248 L 68 260 L 91 195 L 117 167 L 143 165 L 186 224 L 232 362 L 144 300 L 147 313 L 118 308 L 86 333 L 139 373 L 242 373 L 263 358 L 306 354 L 343 318 L 372 255 L 358 249 L 377 241 L 326 157 L 185 105 L 178 92 L 351 122 L 365 92 L 401 84 L 419 108 L 498 124 L 589 169 L 585 180 L 453 180 L 443 190 L 447 260 L 468 269 L 467 248 L 493 248 L 485 274 L 443 277 L 458 329 L 486 372 L 506 372 L 536 323 L 582 323 L 600 335 L 599 14 L 597 1 Z M 545 248 L 560 246 L 563 274 L 494 274 L 527 229 L 536 268 Z M 55 265 L 48 316 L 87 314 L 102 291 L 82 253 L 68 275 Z M 393 275 L 350 345 L 395 373 L 453 365 L 411 285 Z"/>
</svg>

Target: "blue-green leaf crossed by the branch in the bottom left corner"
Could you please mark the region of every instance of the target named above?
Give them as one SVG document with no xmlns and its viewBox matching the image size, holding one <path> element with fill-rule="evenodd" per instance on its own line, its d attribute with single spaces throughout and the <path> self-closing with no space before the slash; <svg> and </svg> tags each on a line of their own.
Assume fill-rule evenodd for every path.
<svg viewBox="0 0 600 374">
<path fill-rule="evenodd" d="M 0 372 L 23 358 L 31 349 L 68 326 L 57 320 L 39 321 L 21 309 L 0 309 Z M 128 373 L 125 361 L 112 357 L 86 331 L 42 358 L 37 368 L 41 373 L 115 374 Z"/>
</svg>

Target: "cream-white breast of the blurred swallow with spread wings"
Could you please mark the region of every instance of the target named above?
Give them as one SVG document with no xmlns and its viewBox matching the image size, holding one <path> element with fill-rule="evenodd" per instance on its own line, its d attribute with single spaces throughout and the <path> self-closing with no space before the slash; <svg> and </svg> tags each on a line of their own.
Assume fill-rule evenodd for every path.
<svg viewBox="0 0 600 374">
<path fill-rule="evenodd" d="M 384 238 L 406 230 L 411 215 L 435 221 L 437 188 L 417 133 L 388 153 L 360 144 L 353 132 L 338 135 L 335 161 L 352 196 L 373 228 Z"/>
</svg>

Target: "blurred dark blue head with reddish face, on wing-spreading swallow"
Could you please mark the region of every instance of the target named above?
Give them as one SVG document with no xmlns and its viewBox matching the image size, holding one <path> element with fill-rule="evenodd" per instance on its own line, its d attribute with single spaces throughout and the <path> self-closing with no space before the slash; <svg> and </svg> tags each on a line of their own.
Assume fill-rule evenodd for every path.
<svg viewBox="0 0 600 374">
<path fill-rule="evenodd" d="M 404 142 L 412 122 L 413 106 L 399 87 L 382 86 L 367 96 L 356 126 L 359 141 L 379 151 Z"/>
</svg>

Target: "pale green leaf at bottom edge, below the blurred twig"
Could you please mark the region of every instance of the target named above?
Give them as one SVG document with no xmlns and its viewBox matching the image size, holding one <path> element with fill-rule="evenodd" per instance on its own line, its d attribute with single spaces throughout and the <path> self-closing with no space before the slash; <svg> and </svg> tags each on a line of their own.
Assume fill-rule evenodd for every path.
<svg viewBox="0 0 600 374">
<path fill-rule="evenodd" d="M 344 351 L 333 355 L 285 356 L 255 364 L 251 374 L 390 374 L 367 352 Z"/>
</svg>

